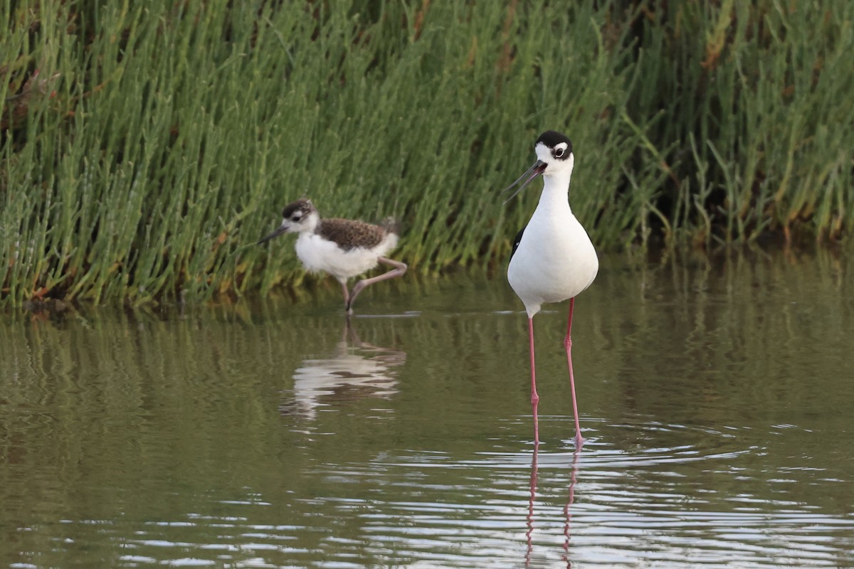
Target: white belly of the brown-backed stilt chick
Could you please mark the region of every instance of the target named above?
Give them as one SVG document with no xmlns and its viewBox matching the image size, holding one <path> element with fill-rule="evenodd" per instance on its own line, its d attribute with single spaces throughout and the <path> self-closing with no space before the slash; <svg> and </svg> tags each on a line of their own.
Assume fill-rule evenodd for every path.
<svg viewBox="0 0 854 569">
<path fill-rule="evenodd" d="M 376 267 L 377 258 L 395 245 L 396 240 L 389 240 L 389 237 L 371 249 L 357 247 L 344 251 L 319 235 L 300 235 L 296 240 L 296 256 L 307 270 L 322 270 L 342 281 Z"/>
</svg>

